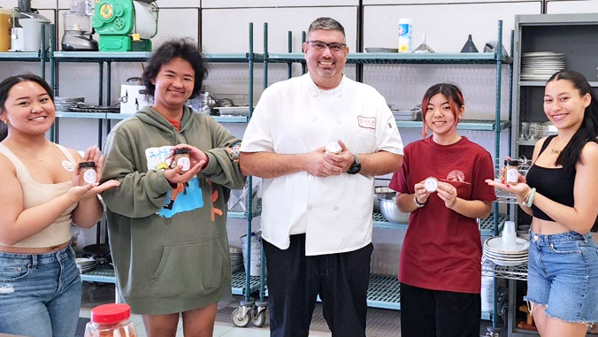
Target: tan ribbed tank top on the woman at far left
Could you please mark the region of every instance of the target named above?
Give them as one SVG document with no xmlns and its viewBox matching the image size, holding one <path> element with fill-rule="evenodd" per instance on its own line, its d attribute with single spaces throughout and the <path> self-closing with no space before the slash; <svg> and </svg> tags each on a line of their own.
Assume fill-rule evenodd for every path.
<svg viewBox="0 0 598 337">
<path fill-rule="evenodd" d="M 54 143 L 52 143 L 54 144 Z M 65 155 L 65 157 L 73 164 L 77 162 L 73 155 L 65 147 L 54 144 Z M 23 210 L 35 207 L 39 204 L 46 203 L 60 195 L 64 195 L 69 188 L 73 187 L 73 181 L 59 182 L 58 184 L 42 184 L 31 177 L 27 171 L 27 167 L 19 160 L 11 149 L 8 149 L 3 144 L 0 144 L 0 153 L 7 157 L 14 165 L 17 171 L 17 180 L 19 180 L 21 188 L 23 188 Z M 42 232 L 28 237 L 20 241 L 12 247 L 26 247 L 26 248 L 46 248 L 58 246 L 71 240 L 71 212 L 77 207 L 77 203 L 69 207 L 53 224 L 48 226 Z"/>
</svg>

